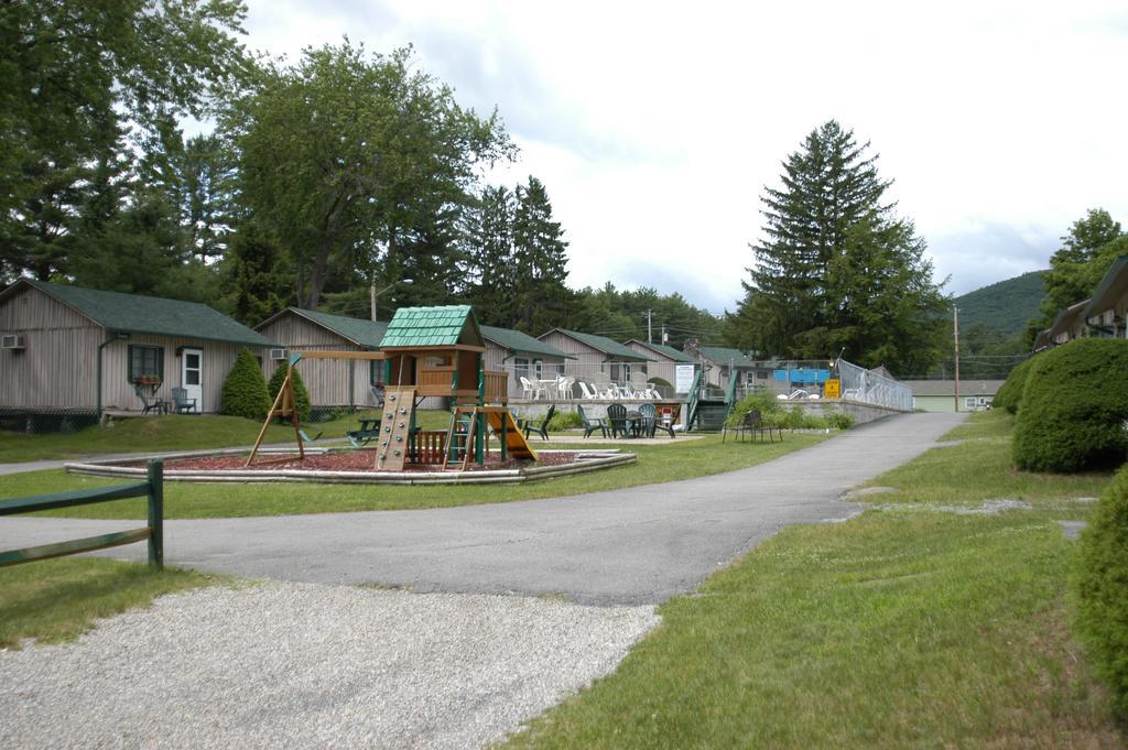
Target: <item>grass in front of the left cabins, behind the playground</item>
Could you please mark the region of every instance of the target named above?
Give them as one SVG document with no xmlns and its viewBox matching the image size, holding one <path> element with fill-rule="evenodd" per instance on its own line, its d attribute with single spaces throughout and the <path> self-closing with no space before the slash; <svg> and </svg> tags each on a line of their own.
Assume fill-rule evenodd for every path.
<svg viewBox="0 0 1128 750">
<path fill-rule="evenodd" d="M 323 440 L 344 438 L 358 426 L 358 418 L 372 414 L 358 412 L 332 422 L 306 425 L 310 436 L 324 431 Z M 450 413 L 422 409 L 420 424 L 426 430 L 446 427 Z M 121 420 L 113 426 L 94 426 L 73 433 L 27 435 L 0 432 L 0 462 L 68 459 L 96 453 L 150 453 L 173 450 L 200 450 L 254 444 L 262 422 L 233 416 L 204 414 Z M 271 425 L 266 442 L 293 442 L 293 427 Z"/>
</svg>

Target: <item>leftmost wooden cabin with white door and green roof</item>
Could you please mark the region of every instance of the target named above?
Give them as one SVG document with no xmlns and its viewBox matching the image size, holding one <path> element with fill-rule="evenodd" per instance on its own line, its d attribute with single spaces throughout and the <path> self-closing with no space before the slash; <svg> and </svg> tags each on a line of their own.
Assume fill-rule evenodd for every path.
<svg viewBox="0 0 1128 750">
<path fill-rule="evenodd" d="M 206 305 L 29 279 L 0 292 L 0 412 L 95 418 L 141 413 L 134 386 L 219 412 L 239 350 L 277 346 Z"/>
</svg>

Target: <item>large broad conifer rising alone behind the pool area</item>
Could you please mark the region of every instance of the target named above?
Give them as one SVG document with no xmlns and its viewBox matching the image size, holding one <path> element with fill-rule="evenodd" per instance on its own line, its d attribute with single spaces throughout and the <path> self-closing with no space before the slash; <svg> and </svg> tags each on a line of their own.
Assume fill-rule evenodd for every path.
<svg viewBox="0 0 1128 750">
<path fill-rule="evenodd" d="M 895 370 L 937 355 L 944 298 L 913 223 L 883 202 L 891 182 L 869 145 L 830 121 L 783 162 L 782 187 L 765 191 L 764 240 L 751 246 L 728 341 L 795 358 L 844 351 Z"/>
</svg>

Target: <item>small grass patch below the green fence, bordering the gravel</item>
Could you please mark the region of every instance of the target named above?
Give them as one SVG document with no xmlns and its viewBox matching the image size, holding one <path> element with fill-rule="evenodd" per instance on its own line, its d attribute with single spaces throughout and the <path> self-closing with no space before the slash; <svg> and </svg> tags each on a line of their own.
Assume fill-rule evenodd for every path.
<svg viewBox="0 0 1128 750">
<path fill-rule="evenodd" d="M 111 559 L 64 557 L 0 568 L 0 647 L 73 638 L 98 618 L 148 607 L 161 594 L 211 585 L 213 575 Z"/>
</svg>

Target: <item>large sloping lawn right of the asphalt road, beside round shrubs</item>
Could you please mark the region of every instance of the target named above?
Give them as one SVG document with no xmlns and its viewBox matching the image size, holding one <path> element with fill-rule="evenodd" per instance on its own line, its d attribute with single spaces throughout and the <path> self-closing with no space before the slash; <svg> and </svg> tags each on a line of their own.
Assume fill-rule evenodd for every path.
<svg viewBox="0 0 1128 750">
<path fill-rule="evenodd" d="M 874 482 L 899 493 L 867 500 L 960 505 L 1021 491 L 1032 510 L 871 510 L 785 529 L 663 605 L 613 676 L 509 747 L 1125 747 L 1069 635 L 1073 542 L 1058 524 L 1089 512 L 1066 498 L 1108 477 L 1041 488 L 1047 477 L 1014 476 L 993 445 L 1001 418 L 952 435 L 984 441 L 990 460 L 936 449 Z"/>
</svg>

